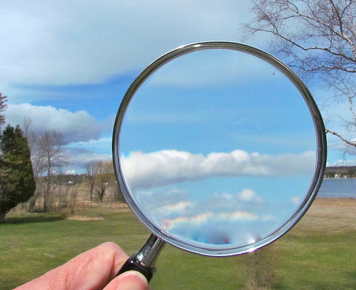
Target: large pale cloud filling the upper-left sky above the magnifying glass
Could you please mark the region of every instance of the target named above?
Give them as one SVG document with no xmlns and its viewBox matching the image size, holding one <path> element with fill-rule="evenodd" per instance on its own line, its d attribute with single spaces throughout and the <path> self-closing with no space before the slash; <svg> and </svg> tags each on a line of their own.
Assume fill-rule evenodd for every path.
<svg viewBox="0 0 356 290">
<path fill-rule="evenodd" d="M 245 2 L 1 1 L 0 85 L 103 82 L 196 41 L 239 41 Z M 8 92 L 6 92 L 8 93 Z"/>
</svg>

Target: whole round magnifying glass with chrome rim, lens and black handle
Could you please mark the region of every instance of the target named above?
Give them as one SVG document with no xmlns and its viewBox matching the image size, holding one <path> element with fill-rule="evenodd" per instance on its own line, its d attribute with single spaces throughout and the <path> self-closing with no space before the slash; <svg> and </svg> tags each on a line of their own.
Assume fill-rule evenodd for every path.
<svg viewBox="0 0 356 290">
<path fill-rule="evenodd" d="M 120 190 L 152 232 L 120 273 L 150 281 L 165 243 L 231 256 L 288 232 L 318 193 L 326 137 L 313 97 L 280 60 L 203 42 L 162 55 L 132 82 L 112 151 Z"/>
</svg>

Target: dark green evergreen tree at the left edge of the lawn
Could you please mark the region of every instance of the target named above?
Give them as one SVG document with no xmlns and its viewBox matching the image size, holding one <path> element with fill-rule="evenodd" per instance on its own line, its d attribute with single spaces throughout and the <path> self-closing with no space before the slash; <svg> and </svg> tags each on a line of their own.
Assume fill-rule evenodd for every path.
<svg viewBox="0 0 356 290">
<path fill-rule="evenodd" d="M 27 138 L 19 125 L 8 125 L 1 136 L 0 222 L 19 203 L 26 202 L 36 190 Z"/>
</svg>

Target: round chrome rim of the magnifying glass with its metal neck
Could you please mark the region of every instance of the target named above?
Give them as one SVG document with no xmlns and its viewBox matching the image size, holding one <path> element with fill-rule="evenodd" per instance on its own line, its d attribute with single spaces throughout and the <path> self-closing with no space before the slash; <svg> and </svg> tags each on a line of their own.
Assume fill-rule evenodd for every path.
<svg viewBox="0 0 356 290">
<path fill-rule="evenodd" d="M 270 63 L 275 68 L 281 71 L 288 79 L 293 82 L 295 87 L 300 92 L 300 95 L 303 96 L 305 103 L 307 104 L 310 114 L 313 118 L 314 127 L 315 127 L 315 135 L 317 139 L 318 146 L 318 154 L 317 154 L 317 162 L 315 166 L 315 174 L 313 182 L 310 184 L 310 188 L 308 190 L 307 195 L 305 195 L 305 199 L 303 203 L 300 204 L 299 208 L 295 210 L 295 213 L 276 231 L 272 232 L 267 237 L 259 240 L 251 245 L 246 245 L 244 247 L 234 247 L 231 249 L 209 249 L 208 247 L 197 247 L 193 245 L 187 245 L 184 242 L 174 239 L 174 237 L 166 235 L 159 230 L 155 225 L 150 222 L 150 219 L 147 218 L 143 213 L 141 213 L 140 208 L 135 203 L 130 195 L 130 190 L 127 188 L 125 183 L 125 178 L 122 173 L 122 166 L 120 163 L 120 129 L 122 125 L 122 120 L 125 116 L 125 112 L 127 107 L 130 104 L 130 101 L 135 96 L 135 93 L 140 88 L 143 82 L 147 80 L 150 75 L 155 73 L 156 70 L 161 68 L 164 64 L 169 63 L 169 61 L 178 58 L 179 56 L 185 55 L 187 53 L 192 53 L 198 50 L 211 50 L 211 49 L 224 49 L 224 50 L 236 50 L 242 53 L 248 53 L 250 55 L 254 55 L 261 60 L 265 60 L 267 63 Z M 310 92 L 307 87 L 305 87 L 304 83 L 300 78 L 293 73 L 287 65 L 282 63 L 277 58 L 273 57 L 263 50 L 259 50 L 258 48 L 253 48 L 252 46 L 245 45 L 243 43 L 234 43 L 234 42 L 225 42 L 225 41 L 209 41 L 209 42 L 201 42 L 201 43 L 192 43 L 189 45 L 183 45 L 179 48 L 176 48 L 169 53 L 162 55 L 160 58 L 157 58 L 153 63 L 151 63 L 137 78 L 132 85 L 128 88 L 125 96 L 122 99 L 120 104 L 120 108 L 117 112 L 117 117 L 115 119 L 115 126 L 112 137 L 112 158 L 115 168 L 115 175 L 117 178 L 117 183 L 122 190 L 122 194 L 125 197 L 127 204 L 132 208 L 135 215 L 141 220 L 141 222 L 148 227 L 148 229 L 153 233 L 150 239 L 147 241 L 147 244 L 138 252 L 135 257 L 145 265 L 153 266 L 155 259 L 157 259 L 157 254 L 159 254 L 164 242 L 168 242 L 171 245 L 179 247 L 181 249 L 185 249 L 189 252 L 194 252 L 197 254 L 204 254 L 207 256 L 230 256 L 234 254 L 243 254 L 246 252 L 252 252 L 259 247 L 263 247 L 274 240 L 278 239 L 282 235 L 284 235 L 288 230 L 290 230 L 293 225 L 295 225 L 300 218 L 303 217 L 305 212 L 308 210 L 310 205 L 313 203 L 315 196 L 318 193 L 320 185 L 323 181 L 323 173 L 326 164 L 326 156 L 327 156 L 327 142 L 326 142 L 326 134 L 325 134 L 325 126 L 323 123 L 323 118 L 319 112 L 313 97 L 310 95 Z"/>
</svg>

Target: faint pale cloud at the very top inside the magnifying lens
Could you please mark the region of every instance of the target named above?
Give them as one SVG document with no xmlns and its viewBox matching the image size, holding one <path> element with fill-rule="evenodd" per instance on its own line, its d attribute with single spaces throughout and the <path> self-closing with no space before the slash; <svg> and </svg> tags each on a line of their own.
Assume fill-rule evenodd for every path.
<svg viewBox="0 0 356 290">
<path fill-rule="evenodd" d="M 152 86 L 224 87 L 256 80 L 281 79 L 282 74 L 264 60 L 235 50 L 197 51 L 164 65 L 151 77 Z"/>
</svg>

